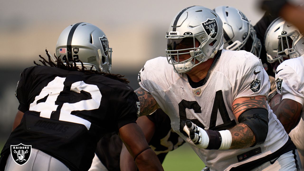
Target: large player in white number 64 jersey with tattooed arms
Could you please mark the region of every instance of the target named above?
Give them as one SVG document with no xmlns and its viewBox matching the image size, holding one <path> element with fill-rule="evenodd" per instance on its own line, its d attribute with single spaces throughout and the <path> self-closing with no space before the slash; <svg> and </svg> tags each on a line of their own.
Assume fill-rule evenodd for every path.
<svg viewBox="0 0 304 171">
<path fill-rule="evenodd" d="M 223 50 L 222 27 L 202 6 L 177 13 L 167 58 L 147 61 L 138 74 L 140 115 L 161 108 L 210 170 L 296 170 L 295 145 L 266 102 L 261 61 Z"/>
</svg>

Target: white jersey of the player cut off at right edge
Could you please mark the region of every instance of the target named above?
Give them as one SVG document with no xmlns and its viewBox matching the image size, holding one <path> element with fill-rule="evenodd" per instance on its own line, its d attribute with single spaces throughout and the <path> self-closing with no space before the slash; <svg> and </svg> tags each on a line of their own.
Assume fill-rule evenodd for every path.
<svg viewBox="0 0 304 171">
<path fill-rule="evenodd" d="M 277 91 L 283 99 L 292 99 L 302 104 L 304 119 L 304 56 L 283 61 L 275 73 Z"/>
</svg>

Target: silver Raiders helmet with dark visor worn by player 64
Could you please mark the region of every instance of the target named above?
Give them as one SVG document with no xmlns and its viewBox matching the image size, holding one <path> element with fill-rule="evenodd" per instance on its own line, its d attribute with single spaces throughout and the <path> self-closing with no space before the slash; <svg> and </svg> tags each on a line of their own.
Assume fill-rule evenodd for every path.
<svg viewBox="0 0 304 171">
<path fill-rule="evenodd" d="M 178 12 L 166 35 L 167 59 L 168 63 L 174 66 L 174 72 L 188 72 L 213 58 L 223 48 L 222 26 L 219 16 L 203 6 L 191 6 Z M 191 57 L 180 61 L 179 56 L 185 54 Z"/>
</svg>

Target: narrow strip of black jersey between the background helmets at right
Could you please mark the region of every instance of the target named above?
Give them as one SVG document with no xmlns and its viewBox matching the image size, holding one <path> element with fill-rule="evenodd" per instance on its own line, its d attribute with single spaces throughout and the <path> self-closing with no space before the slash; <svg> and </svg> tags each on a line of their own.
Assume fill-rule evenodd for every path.
<svg viewBox="0 0 304 171">
<path fill-rule="evenodd" d="M 254 26 L 254 30 L 257 33 L 257 38 L 261 40 L 261 44 L 262 44 L 260 59 L 263 63 L 263 67 L 266 70 L 267 74 L 271 75 L 273 77 L 275 77 L 275 73 L 272 70 L 271 64 L 267 62 L 264 38 L 265 38 L 265 33 L 266 33 L 268 26 L 276 18 L 278 18 L 278 16 L 275 16 L 275 15 L 272 15 L 269 13 L 265 13 L 264 16 Z"/>
</svg>

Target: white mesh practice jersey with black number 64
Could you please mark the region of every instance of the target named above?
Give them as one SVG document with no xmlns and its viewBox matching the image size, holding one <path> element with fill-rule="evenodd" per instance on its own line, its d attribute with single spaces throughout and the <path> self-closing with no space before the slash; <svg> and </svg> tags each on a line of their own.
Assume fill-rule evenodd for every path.
<svg viewBox="0 0 304 171">
<path fill-rule="evenodd" d="M 223 50 L 205 85 L 193 89 L 186 74 L 177 74 L 165 57 L 146 62 L 138 75 L 140 86 L 150 92 L 158 106 L 171 119 L 171 127 L 186 142 L 210 170 L 230 170 L 232 167 L 262 158 L 281 148 L 288 140 L 282 124 L 268 106 L 268 135 L 263 144 L 244 149 L 206 150 L 197 148 L 180 129 L 183 120 L 211 130 L 226 130 L 238 124 L 232 112 L 235 99 L 268 95 L 270 83 L 261 61 L 246 51 Z M 247 158 L 253 149 L 256 155 Z M 244 155 L 245 153 L 245 155 Z"/>
</svg>

